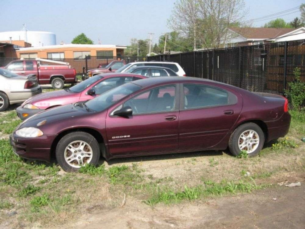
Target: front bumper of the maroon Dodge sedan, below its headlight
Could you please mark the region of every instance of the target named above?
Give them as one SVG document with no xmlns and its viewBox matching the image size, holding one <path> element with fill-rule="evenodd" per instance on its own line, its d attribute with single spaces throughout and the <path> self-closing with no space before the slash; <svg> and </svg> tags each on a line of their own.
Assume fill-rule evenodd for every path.
<svg viewBox="0 0 305 229">
<path fill-rule="evenodd" d="M 37 138 L 22 138 L 12 134 L 9 142 L 15 154 L 22 158 L 46 161 L 51 160 L 51 146 L 56 135 L 43 135 Z"/>
</svg>

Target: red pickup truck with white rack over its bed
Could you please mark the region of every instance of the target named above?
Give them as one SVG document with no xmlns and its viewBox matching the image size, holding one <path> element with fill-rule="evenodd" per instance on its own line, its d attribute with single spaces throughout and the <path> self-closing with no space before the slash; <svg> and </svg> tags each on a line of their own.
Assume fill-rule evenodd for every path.
<svg viewBox="0 0 305 229">
<path fill-rule="evenodd" d="M 60 63 L 57 61 L 52 63 Z M 64 63 L 64 62 L 62 62 Z M 18 75 L 35 74 L 39 84 L 52 84 L 54 89 L 62 89 L 65 83 L 75 83 L 76 70 L 65 65 L 42 65 L 40 60 L 13 60 L 4 68 Z"/>
</svg>

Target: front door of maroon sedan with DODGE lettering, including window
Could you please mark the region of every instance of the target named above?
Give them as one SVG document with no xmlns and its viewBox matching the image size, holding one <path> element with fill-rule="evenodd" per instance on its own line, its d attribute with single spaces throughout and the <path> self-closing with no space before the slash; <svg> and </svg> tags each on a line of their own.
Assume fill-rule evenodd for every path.
<svg viewBox="0 0 305 229">
<path fill-rule="evenodd" d="M 133 115 L 106 118 L 106 133 L 112 157 L 178 151 L 179 96 L 176 85 L 150 89 L 128 100 Z"/>
</svg>

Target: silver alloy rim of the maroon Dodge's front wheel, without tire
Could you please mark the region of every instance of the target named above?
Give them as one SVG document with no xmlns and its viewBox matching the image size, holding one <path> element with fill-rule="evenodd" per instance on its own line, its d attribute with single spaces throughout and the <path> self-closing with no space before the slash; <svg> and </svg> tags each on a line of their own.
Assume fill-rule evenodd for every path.
<svg viewBox="0 0 305 229">
<path fill-rule="evenodd" d="M 90 145 L 84 141 L 71 142 L 64 152 L 66 162 L 74 168 L 80 168 L 81 166 L 90 163 L 92 155 L 93 152 Z"/>
</svg>

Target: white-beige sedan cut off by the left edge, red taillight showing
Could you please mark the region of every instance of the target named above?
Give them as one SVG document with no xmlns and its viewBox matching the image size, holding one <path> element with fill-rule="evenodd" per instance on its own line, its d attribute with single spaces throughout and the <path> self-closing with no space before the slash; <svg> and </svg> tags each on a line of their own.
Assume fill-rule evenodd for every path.
<svg viewBox="0 0 305 229">
<path fill-rule="evenodd" d="M 22 103 L 42 91 L 33 74 L 20 76 L 0 68 L 0 82 L 0 111 L 5 111 L 10 104 Z"/>
</svg>

